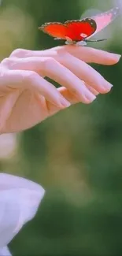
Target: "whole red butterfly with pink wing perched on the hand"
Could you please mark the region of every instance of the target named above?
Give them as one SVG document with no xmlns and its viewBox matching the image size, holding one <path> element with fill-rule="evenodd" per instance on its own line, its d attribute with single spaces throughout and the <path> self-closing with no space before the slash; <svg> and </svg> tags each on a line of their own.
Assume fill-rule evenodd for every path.
<svg viewBox="0 0 122 256">
<path fill-rule="evenodd" d="M 92 35 L 100 32 L 110 22 L 112 22 L 119 13 L 119 7 L 110 9 L 108 12 L 100 13 L 94 17 L 84 18 L 83 20 L 68 20 L 65 24 L 60 22 L 45 23 L 40 30 L 55 39 L 63 39 L 66 44 L 86 45 L 87 42 L 98 42 L 99 40 L 88 40 Z"/>
</svg>

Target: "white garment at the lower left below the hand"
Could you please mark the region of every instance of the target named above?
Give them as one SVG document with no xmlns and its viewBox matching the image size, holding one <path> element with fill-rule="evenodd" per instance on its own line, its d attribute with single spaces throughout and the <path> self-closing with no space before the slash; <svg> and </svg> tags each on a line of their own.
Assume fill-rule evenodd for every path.
<svg viewBox="0 0 122 256">
<path fill-rule="evenodd" d="M 11 255 L 8 243 L 35 217 L 44 193 L 31 180 L 0 173 L 0 256 Z"/>
</svg>

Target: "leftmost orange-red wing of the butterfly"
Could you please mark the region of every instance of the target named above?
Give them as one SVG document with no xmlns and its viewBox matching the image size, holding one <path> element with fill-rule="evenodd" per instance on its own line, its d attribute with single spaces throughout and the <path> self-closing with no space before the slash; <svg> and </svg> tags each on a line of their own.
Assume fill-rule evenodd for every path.
<svg viewBox="0 0 122 256">
<path fill-rule="evenodd" d="M 60 39 L 65 39 L 68 31 L 68 28 L 65 26 L 65 24 L 62 24 L 60 22 L 45 23 L 41 27 L 39 27 L 39 29 L 48 35 Z"/>
</svg>

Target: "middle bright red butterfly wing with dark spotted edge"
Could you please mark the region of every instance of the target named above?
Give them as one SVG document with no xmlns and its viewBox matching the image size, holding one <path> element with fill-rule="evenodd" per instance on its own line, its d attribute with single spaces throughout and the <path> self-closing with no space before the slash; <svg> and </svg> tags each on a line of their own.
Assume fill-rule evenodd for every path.
<svg viewBox="0 0 122 256">
<path fill-rule="evenodd" d="M 94 34 L 97 25 L 93 19 L 83 19 L 83 20 L 68 20 L 65 22 L 68 28 L 67 37 L 72 39 L 72 41 L 82 41 L 88 36 Z"/>
</svg>

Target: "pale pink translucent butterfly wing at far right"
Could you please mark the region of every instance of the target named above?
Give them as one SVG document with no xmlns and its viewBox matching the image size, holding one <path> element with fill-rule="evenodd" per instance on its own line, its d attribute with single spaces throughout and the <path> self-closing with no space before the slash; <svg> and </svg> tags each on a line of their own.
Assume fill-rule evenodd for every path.
<svg viewBox="0 0 122 256">
<path fill-rule="evenodd" d="M 109 9 L 109 11 L 105 13 L 99 13 L 98 15 L 91 17 L 91 19 L 93 19 L 97 24 L 97 29 L 94 34 L 102 31 L 103 28 L 107 27 L 119 15 L 119 13 L 120 9 L 119 7 L 116 7 Z"/>
</svg>

